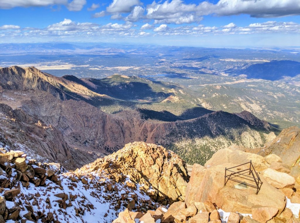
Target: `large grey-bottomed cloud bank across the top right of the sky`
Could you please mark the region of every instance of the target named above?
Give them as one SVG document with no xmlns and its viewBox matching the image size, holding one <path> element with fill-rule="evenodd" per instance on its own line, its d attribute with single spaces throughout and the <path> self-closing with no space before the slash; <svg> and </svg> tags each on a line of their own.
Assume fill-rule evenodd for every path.
<svg viewBox="0 0 300 223">
<path fill-rule="evenodd" d="M 112 19 L 131 22 L 147 19 L 154 20 L 154 24 L 191 24 L 199 23 L 203 19 L 202 16 L 209 14 L 218 16 L 249 14 L 252 17 L 300 15 L 300 2 L 299 0 L 219 0 L 216 4 L 208 1 L 187 4 L 184 0 L 161 0 L 153 1 L 145 7 L 140 0 L 113 0 L 106 8 L 106 12 L 112 14 Z M 123 17 L 123 13 L 129 15 Z M 235 28 L 234 23 L 223 27 L 225 30 L 232 28 Z"/>
</svg>

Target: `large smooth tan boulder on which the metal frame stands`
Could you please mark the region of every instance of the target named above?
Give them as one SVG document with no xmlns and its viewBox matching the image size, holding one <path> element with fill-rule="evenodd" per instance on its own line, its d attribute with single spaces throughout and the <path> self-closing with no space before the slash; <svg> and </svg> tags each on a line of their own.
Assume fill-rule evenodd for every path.
<svg viewBox="0 0 300 223">
<path fill-rule="evenodd" d="M 228 181 L 224 186 L 225 167 L 229 168 L 250 160 L 256 171 L 267 168 L 263 157 L 229 149 L 217 151 L 205 163 L 205 167 L 194 164 L 186 191 L 187 206 L 194 204 L 197 207 L 198 202 L 209 201 L 226 212 L 251 214 L 253 206 L 270 206 L 282 212 L 285 208 L 285 195 L 262 176 L 263 184 L 257 195 L 255 188 L 236 188 L 237 182 Z"/>
</svg>

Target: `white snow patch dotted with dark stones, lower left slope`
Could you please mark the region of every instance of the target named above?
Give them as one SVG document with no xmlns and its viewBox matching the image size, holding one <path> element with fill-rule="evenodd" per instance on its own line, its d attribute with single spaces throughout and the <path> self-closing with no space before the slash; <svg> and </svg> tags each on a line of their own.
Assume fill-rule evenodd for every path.
<svg viewBox="0 0 300 223">
<path fill-rule="evenodd" d="M 78 181 L 75 183 L 70 177 L 64 175 L 60 175 L 60 179 L 61 187 L 50 180 L 46 180 L 47 186 L 45 187 L 36 187 L 33 183 L 30 183 L 29 188 L 26 189 L 20 184 L 21 194 L 23 193 L 25 196 L 16 198 L 15 203 L 20 203 L 26 210 L 26 202 L 29 202 L 34 211 L 41 211 L 45 215 L 51 212 L 54 215 L 54 219 L 57 219 L 61 223 L 77 223 L 82 221 L 88 223 L 112 222 L 117 218 L 118 213 L 124 211 L 127 206 L 127 203 L 121 201 L 120 208 L 116 207 L 116 199 L 121 198 L 124 194 L 129 195 L 129 200 L 133 199 L 130 196 L 137 196 L 138 202 L 136 206 L 139 205 L 139 201 L 142 200 L 148 200 L 152 205 L 154 204 L 151 198 L 144 194 L 143 191 L 125 188 L 122 183 L 113 183 L 110 182 L 109 179 L 105 179 L 103 185 L 97 186 L 97 183 L 102 180 L 99 176 L 96 176 L 93 181 L 88 180 L 90 181 L 88 184 L 82 183 L 78 178 Z M 119 191 L 107 191 L 105 185 L 108 183 L 117 186 Z M 3 193 L 1 195 L 3 195 Z M 61 198 L 55 196 L 55 194 L 60 193 L 67 194 L 69 199 L 75 195 L 77 195 L 77 197 L 73 199 L 73 201 L 71 201 L 72 199 L 67 199 L 67 207 L 63 209 L 59 207 L 59 203 L 57 202 L 57 200 L 61 200 Z M 7 201 L 6 206 L 12 208 L 15 203 Z M 71 203 L 70 206 L 69 203 Z M 78 215 L 78 211 L 76 213 L 76 210 L 83 210 L 82 214 Z M 38 222 L 41 222 L 41 220 Z"/>
</svg>

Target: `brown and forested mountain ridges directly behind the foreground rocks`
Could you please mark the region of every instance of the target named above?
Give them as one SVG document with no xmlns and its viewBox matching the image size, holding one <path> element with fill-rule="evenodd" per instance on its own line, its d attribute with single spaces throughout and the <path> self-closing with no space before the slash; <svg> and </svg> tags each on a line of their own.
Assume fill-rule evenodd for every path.
<svg viewBox="0 0 300 223">
<path fill-rule="evenodd" d="M 205 163 L 219 148 L 259 147 L 278 131 L 249 112 L 205 109 L 180 85 L 137 77 L 59 78 L 14 66 L 0 69 L 0 90 L 2 146 L 70 168 L 133 141 Z"/>
</svg>

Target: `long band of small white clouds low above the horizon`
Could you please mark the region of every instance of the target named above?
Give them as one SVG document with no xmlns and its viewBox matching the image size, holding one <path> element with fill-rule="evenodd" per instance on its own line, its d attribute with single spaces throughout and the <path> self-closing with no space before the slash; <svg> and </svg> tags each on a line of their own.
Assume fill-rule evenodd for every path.
<svg viewBox="0 0 300 223">
<path fill-rule="evenodd" d="M 226 28 L 229 27 L 229 28 Z M 145 32 L 144 30 L 153 29 L 153 32 Z M 70 19 L 64 19 L 59 23 L 51 24 L 43 29 L 40 28 L 20 28 L 16 25 L 4 25 L 0 27 L 1 36 L 10 36 L 12 38 L 97 38 L 104 36 L 150 36 L 150 35 L 188 35 L 188 36 L 204 36 L 204 35 L 249 35 L 253 33 L 297 33 L 300 34 L 300 24 L 294 22 L 277 22 L 268 21 L 265 23 L 251 23 L 247 26 L 236 26 L 229 23 L 226 26 L 205 26 L 184 25 L 171 26 L 161 24 L 154 27 L 146 23 L 141 27 L 137 27 L 134 23 L 126 21 L 125 23 L 108 23 L 100 25 L 97 23 L 79 23 Z"/>
</svg>

